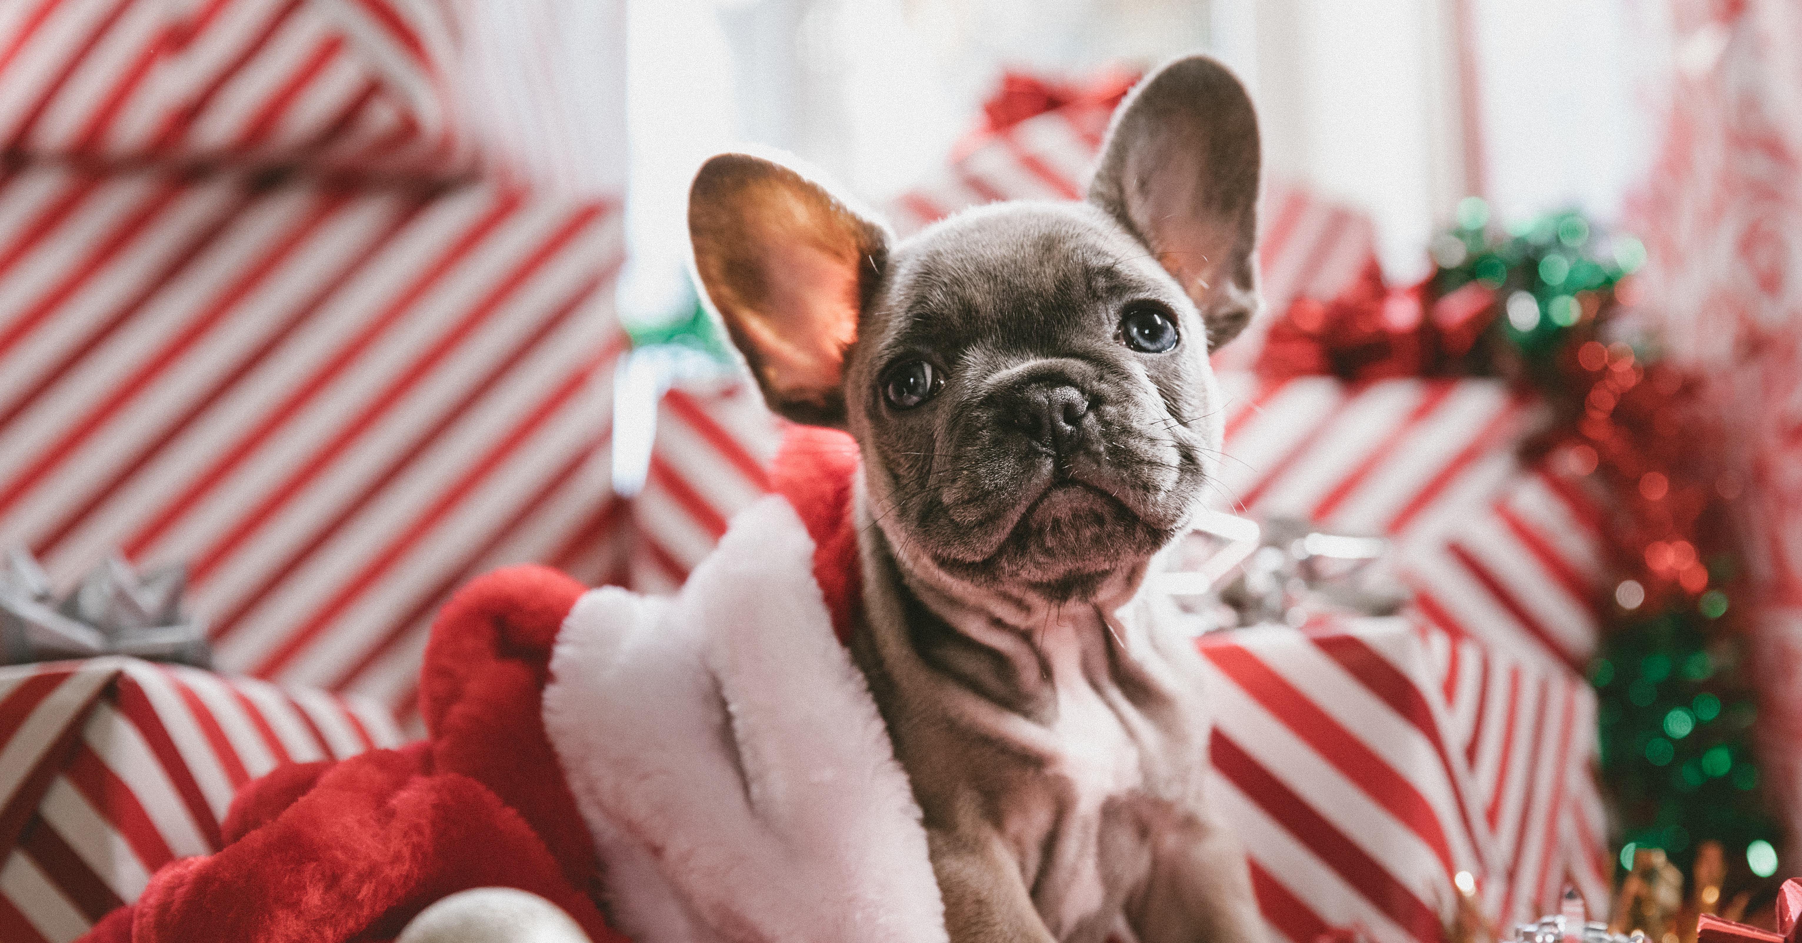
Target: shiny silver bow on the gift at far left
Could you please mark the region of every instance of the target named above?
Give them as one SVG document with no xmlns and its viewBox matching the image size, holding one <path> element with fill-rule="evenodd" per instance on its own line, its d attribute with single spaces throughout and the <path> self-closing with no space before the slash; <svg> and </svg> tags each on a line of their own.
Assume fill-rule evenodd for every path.
<svg viewBox="0 0 1802 943">
<path fill-rule="evenodd" d="M 180 612 L 187 570 L 169 565 L 139 576 L 108 556 L 61 599 L 23 549 L 0 567 L 0 653 L 5 664 L 132 655 L 211 666 L 207 632 Z"/>
</svg>

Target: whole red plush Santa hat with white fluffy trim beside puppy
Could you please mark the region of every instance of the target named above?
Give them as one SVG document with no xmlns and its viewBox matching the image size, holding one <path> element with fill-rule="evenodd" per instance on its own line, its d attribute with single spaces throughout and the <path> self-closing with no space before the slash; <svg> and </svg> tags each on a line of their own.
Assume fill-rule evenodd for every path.
<svg viewBox="0 0 1802 943">
<path fill-rule="evenodd" d="M 596 943 L 946 939 L 906 774 L 834 641 L 860 596 L 856 463 L 843 434 L 791 432 L 782 497 L 674 597 L 476 579 L 432 630 L 425 741 L 250 785 L 227 848 L 88 939 L 393 939 L 488 885 Z"/>
</svg>

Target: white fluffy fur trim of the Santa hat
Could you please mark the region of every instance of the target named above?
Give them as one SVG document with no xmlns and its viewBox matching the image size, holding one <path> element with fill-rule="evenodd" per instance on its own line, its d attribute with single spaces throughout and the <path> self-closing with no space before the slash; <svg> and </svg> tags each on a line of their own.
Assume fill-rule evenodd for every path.
<svg viewBox="0 0 1802 943">
<path fill-rule="evenodd" d="M 946 939 L 906 772 L 782 498 L 674 599 L 586 594 L 544 725 L 638 943 Z"/>
</svg>

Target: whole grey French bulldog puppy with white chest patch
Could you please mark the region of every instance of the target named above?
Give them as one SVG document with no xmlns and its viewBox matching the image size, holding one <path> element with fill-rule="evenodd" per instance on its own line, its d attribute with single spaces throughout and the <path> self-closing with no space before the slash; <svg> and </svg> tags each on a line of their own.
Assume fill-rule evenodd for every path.
<svg viewBox="0 0 1802 943">
<path fill-rule="evenodd" d="M 1186 58 L 1121 104 L 1085 202 L 897 243 L 778 162 L 694 182 L 696 270 L 769 407 L 861 448 L 852 659 L 953 941 L 1263 938 L 1202 794 L 1200 657 L 1141 592 L 1216 468 L 1258 162 L 1245 90 Z"/>
</svg>

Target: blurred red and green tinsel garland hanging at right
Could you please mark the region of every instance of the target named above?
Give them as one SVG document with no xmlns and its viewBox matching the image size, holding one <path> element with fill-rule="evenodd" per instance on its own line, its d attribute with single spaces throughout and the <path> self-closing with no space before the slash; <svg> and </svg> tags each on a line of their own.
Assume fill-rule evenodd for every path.
<svg viewBox="0 0 1802 943">
<path fill-rule="evenodd" d="M 1467 198 L 1431 254 L 1431 299 L 1472 283 L 1494 292 L 1467 369 L 1535 387 L 1557 421 L 1530 448 L 1582 455 L 1577 473 L 1613 506 L 1611 594 L 1598 599 L 1589 680 L 1622 860 L 1656 848 L 1687 873 L 1712 839 L 1726 851 L 1723 891 L 1759 887 L 1780 871 L 1782 840 L 1759 795 L 1757 707 L 1734 605 L 1744 588 L 1708 464 L 1717 430 L 1696 425 L 1676 369 L 1611 326 L 1645 247 L 1575 211 L 1499 230 L 1490 207 Z"/>
</svg>

